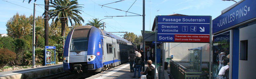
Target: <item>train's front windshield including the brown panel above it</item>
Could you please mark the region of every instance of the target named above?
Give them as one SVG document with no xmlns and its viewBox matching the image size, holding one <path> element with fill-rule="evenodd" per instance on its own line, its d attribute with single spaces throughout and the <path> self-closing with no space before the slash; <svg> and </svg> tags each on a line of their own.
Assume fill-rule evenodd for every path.
<svg viewBox="0 0 256 79">
<path fill-rule="evenodd" d="M 82 29 L 73 32 L 70 52 L 87 51 L 89 30 Z"/>
</svg>

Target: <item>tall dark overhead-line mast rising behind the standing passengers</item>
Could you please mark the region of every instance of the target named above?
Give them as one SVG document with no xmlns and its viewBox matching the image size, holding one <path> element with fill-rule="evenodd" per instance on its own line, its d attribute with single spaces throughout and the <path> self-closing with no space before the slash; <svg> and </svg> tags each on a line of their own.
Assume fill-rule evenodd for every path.
<svg viewBox="0 0 256 79">
<path fill-rule="evenodd" d="M 145 0 L 143 0 L 143 22 L 142 22 L 142 26 L 143 26 L 143 33 L 142 33 L 142 47 L 143 50 L 145 51 L 145 41 L 144 41 L 144 36 L 145 36 Z"/>
</svg>

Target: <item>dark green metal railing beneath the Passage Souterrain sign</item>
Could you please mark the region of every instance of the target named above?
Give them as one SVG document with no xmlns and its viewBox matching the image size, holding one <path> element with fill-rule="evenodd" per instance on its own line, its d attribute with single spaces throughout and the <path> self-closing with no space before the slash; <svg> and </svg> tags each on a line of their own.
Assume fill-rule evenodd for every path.
<svg viewBox="0 0 256 79">
<path fill-rule="evenodd" d="M 173 60 L 170 61 L 170 71 L 174 79 L 208 79 L 209 72 L 186 72 L 187 68 L 179 65 Z"/>
</svg>

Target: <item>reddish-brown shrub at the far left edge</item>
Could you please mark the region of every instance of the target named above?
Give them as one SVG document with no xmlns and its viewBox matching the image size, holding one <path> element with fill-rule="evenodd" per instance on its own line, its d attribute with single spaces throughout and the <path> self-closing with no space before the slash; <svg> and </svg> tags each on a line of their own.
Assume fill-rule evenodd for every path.
<svg viewBox="0 0 256 79">
<path fill-rule="evenodd" d="M 0 68 L 4 67 L 10 61 L 16 59 L 16 54 L 8 49 L 0 49 Z"/>
</svg>

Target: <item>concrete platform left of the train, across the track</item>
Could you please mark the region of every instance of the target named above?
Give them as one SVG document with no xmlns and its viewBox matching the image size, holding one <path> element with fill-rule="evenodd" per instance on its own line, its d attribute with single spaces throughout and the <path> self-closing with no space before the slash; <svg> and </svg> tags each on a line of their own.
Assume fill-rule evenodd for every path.
<svg viewBox="0 0 256 79">
<path fill-rule="evenodd" d="M 26 79 L 63 72 L 63 64 L 0 72 L 0 79 Z"/>
</svg>

